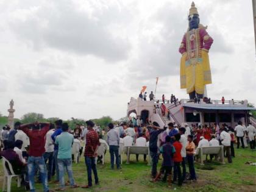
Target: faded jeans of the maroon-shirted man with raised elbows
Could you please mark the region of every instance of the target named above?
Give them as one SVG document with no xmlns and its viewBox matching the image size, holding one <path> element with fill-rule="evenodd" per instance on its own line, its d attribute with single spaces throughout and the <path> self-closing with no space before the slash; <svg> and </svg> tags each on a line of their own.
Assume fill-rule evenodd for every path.
<svg viewBox="0 0 256 192">
<path fill-rule="evenodd" d="M 49 191 L 46 165 L 44 163 L 43 156 L 40 156 L 40 157 L 30 156 L 28 161 L 27 161 L 27 169 L 28 169 L 28 172 L 29 172 L 30 191 L 32 191 L 32 192 L 35 191 L 34 176 L 35 176 L 35 167 L 36 166 L 38 166 L 38 169 L 39 169 L 39 172 L 40 172 L 41 182 L 43 183 L 43 190 L 44 191 Z"/>
</svg>

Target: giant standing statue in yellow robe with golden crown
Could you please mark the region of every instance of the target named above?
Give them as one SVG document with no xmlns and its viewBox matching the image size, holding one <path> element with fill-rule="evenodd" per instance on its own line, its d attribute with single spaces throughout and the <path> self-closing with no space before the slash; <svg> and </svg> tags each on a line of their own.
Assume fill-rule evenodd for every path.
<svg viewBox="0 0 256 192">
<path fill-rule="evenodd" d="M 188 30 L 183 36 L 179 52 L 180 59 L 180 88 L 187 88 L 190 99 L 203 98 L 205 85 L 212 84 L 208 51 L 213 39 L 206 30 L 207 27 L 199 24 L 199 14 L 191 4 L 188 15 Z"/>
</svg>

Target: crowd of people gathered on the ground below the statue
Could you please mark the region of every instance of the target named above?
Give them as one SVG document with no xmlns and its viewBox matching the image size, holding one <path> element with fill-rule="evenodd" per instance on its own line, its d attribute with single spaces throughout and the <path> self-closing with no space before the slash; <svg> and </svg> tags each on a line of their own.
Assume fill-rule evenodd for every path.
<svg viewBox="0 0 256 192">
<path fill-rule="evenodd" d="M 59 183 L 57 191 L 64 191 L 65 185 L 77 188 L 72 169 L 72 150 L 74 143 L 79 143 L 79 153 L 84 151 L 85 165 L 87 166 L 88 185 L 93 186 L 92 172 L 95 185 L 99 184 L 96 168 L 96 158 L 99 146 L 104 144 L 104 152 L 109 149 L 110 168 L 121 169 L 119 146 L 149 147 L 152 169 L 152 182 L 157 182 L 161 176 L 163 181 L 168 180 L 168 186 L 176 183 L 181 186 L 187 180 L 196 181 L 194 169 L 194 155 L 198 148 L 207 146 L 224 146 L 224 153 L 229 163 L 235 157 L 234 143 L 237 139 L 237 148 L 247 146 L 246 136 L 249 138 L 251 149 L 255 149 L 254 126 L 243 126 L 241 121 L 233 129 L 222 124 L 210 126 L 201 124 L 185 124 L 184 127 L 169 123 L 168 127 L 159 127 L 157 123 L 133 118 L 129 123 L 114 125 L 108 124 L 108 131 L 95 126 L 93 121 L 87 121 L 86 127 L 79 124 L 74 130 L 69 129 L 68 123 L 61 119 L 51 123 L 21 124 L 16 122 L 13 129 L 4 127 L 1 132 L 1 157 L 11 163 L 15 174 L 24 174 L 23 184 L 27 190 L 35 191 L 35 177 L 39 180 L 44 191 L 49 190 L 48 182 Z M 82 143 L 82 141 L 84 143 Z M 162 154 L 162 165 L 157 170 L 158 161 Z M 138 161 L 139 156 L 136 155 Z M 213 156 L 210 155 L 210 160 Z M 143 160 L 146 162 L 146 155 Z M 116 162 L 114 162 L 116 161 Z M 189 176 L 187 176 L 187 166 Z M 68 173 L 68 182 L 64 180 L 64 172 Z M 55 177 L 55 179 L 53 179 Z"/>
</svg>

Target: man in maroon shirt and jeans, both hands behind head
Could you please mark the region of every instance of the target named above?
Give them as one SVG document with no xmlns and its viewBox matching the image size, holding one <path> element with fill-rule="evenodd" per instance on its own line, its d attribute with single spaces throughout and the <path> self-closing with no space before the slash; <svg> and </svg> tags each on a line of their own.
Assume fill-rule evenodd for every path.
<svg viewBox="0 0 256 192">
<path fill-rule="evenodd" d="M 49 123 L 30 123 L 23 124 L 20 126 L 20 130 L 23 130 L 24 133 L 29 137 L 30 146 L 29 146 L 29 159 L 27 160 L 27 169 L 29 172 L 29 187 L 30 191 L 35 191 L 35 166 L 38 166 L 40 171 L 41 182 L 43 183 L 44 192 L 51 191 L 48 186 L 48 177 L 46 171 L 46 165 L 44 163 L 43 154 L 45 152 L 45 135 L 48 132 L 50 127 Z M 30 129 L 29 129 L 30 128 Z M 32 128 L 32 129 L 31 129 Z"/>
</svg>

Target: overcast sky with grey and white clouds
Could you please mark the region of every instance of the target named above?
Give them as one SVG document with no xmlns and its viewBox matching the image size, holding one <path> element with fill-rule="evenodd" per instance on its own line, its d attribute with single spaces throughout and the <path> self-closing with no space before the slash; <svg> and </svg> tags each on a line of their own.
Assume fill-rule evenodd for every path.
<svg viewBox="0 0 256 192">
<path fill-rule="evenodd" d="M 256 104 L 252 1 L 194 1 L 210 49 L 212 99 Z M 114 119 L 143 85 L 180 90 L 179 46 L 191 1 L 0 1 L 0 112 Z"/>
</svg>

